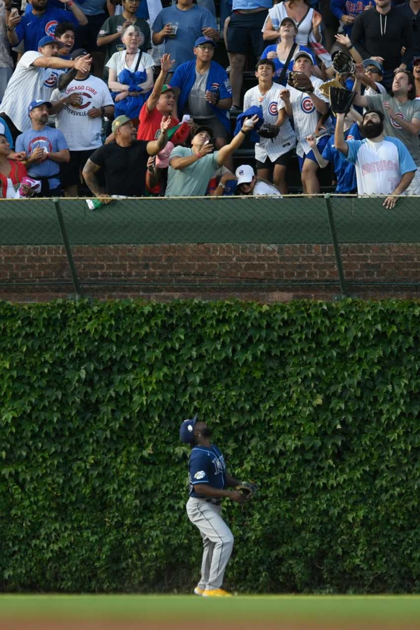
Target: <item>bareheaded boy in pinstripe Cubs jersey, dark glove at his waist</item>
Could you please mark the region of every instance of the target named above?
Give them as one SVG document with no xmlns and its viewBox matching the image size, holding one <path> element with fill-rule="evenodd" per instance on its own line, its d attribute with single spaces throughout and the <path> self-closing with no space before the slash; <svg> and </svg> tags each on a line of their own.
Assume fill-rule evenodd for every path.
<svg viewBox="0 0 420 630">
<path fill-rule="evenodd" d="M 292 151 L 296 146 L 296 135 L 286 115 L 285 104 L 280 98 L 282 87 L 273 83 L 276 68 L 270 59 L 260 59 L 255 76 L 258 85 L 249 89 L 244 96 L 244 111 L 261 106 L 264 122 L 277 127 L 278 135 L 271 138 L 260 137 L 255 145 L 257 175 L 273 182 L 281 193 L 287 194 L 286 170 Z"/>
</svg>

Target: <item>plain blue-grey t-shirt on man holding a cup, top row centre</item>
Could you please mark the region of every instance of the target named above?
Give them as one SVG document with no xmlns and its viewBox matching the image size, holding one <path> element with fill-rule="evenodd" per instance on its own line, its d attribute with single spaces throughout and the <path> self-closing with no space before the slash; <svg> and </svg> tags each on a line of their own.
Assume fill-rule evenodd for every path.
<svg viewBox="0 0 420 630">
<path fill-rule="evenodd" d="M 193 4 L 188 11 L 181 11 L 176 4 L 162 9 L 153 23 L 152 30 L 155 33 L 161 31 L 168 22 L 178 22 L 176 37 L 167 37 L 165 40 L 165 52 L 171 55 L 171 59 L 175 59 L 173 70 L 186 61 L 195 59 L 193 46 L 195 40 L 203 36 L 203 28 L 217 30 L 216 21 L 210 11 L 197 4 Z"/>
</svg>

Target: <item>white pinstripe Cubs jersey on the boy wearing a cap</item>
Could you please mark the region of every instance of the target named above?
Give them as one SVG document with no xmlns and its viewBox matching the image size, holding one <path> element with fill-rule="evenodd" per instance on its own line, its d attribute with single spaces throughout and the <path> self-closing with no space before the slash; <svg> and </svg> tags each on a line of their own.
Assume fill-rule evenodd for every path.
<svg viewBox="0 0 420 630">
<path fill-rule="evenodd" d="M 322 101 L 329 103 L 329 100 L 322 95 L 319 91 L 319 86 L 322 85 L 321 79 L 318 77 L 310 77 L 310 82 L 314 86 L 314 94 Z M 314 103 L 310 100 L 309 95 L 306 92 L 300 92 L 298 89 L 292 88 L 291 86 L 287 86 L 290 91 L 290 103 L 292 104 L 293 111 L 293 125 L 295 127 L 295 134 L 297 137 L 297 147 L 296 152 L 299 157 L 303 157 L 304 154 L 310 152 L 310 146 L 305 140 L 307 135 L 311 135 L 315 131 L 315 127 L 317 126 L 320 114 L 315 109 Z M 332 135 L 334 134 L 334 127 L 331 122 L 331 118 L 327 118 L 326 122 L 324 122 L 324 127 L 326 130 L 322 130 L 322 134 L 317 138 L 317 142 L 322 135 Z"/>
</svg>

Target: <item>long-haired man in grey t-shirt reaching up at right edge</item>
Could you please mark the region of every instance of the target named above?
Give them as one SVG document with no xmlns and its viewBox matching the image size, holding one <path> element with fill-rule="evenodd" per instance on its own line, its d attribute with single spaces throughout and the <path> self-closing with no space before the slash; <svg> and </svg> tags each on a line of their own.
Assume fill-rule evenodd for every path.
<svg viewBox="0 0 420 630">
<path fill-rule="evenodd" d="M 356 64 L 356 78 L 365 76 L 362 64 Z M 388 94 L 373 96 L 356 95 L 355 105 L 383 113 L 383 129 L 386 135 L 401 140 L 409 150 L 412 159 L 420 166 L 420 101 L 416 100 L 416 87 L 411 72 L 396 72 L 392 90 Z M 420 170 L 412 180 L 407 195 L 420 195 Z"/>
</svg>

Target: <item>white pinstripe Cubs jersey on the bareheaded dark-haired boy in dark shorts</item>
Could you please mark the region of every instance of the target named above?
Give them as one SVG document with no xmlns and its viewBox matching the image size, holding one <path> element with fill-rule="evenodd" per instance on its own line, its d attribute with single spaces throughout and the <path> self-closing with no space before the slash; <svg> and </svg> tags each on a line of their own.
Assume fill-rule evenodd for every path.
<svg viewBox="0 0 420 630">
<path fill-rule="evenodd" d="M 244 96 L 244 111 L 253 105 L 263 108 L 264 122 L 275 123 L 278 117 L 278 110 L 283 109 L 285 104 L 280 98 L 280 92 L 283 86 L 276 83 L 271 86 L 271 89 L 263 96 L 259 91 L 258 85 L 255 88 L 249 89 Z M 261 138 L 255 145 L 255 157 L 260 162 L 265 162 L 269 157 L 271 162 L 274 162 L 278 157 L 282 156 L 287 151 L 294 149 L 296 146 L 295 132 L 290 125 L 290 121 L 286 116 L 285 122 L 280 127 L 280 134 L 274 139 Z"/>
</svg>

